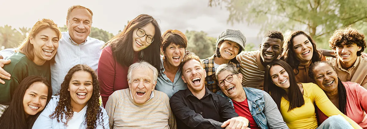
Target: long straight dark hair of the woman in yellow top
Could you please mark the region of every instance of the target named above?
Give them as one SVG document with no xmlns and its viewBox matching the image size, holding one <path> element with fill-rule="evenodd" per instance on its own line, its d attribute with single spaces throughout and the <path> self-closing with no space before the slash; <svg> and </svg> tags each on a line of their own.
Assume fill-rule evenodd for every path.
<svg viewBox="0 0 367 129">
<path fill-rule="evenodd" d="M 273 62 L 271 62 L 268 66 L 266 66 L 264 91 L 268 92 L 270 96 L 272 96 L 273 100 L 278 106 L 278 109 L 280 110 L 281 97 L 287 96 L 287 93 L 286 91 L 284 91 L 284 89 L 275 85 L 272 81 L 272 77 L 270 75 L 270 69 L 276 65 L 283 67 L 284 70 L 286 70 L 286 72 L 288 73 L 289 77 L 288 99 L 290 104 L 288 107 L 288 111 L 303 106 L 305 104 L 305 100 L 303 99 L 302 92 L 297 85 L 293 69 L 287 62 L 284 62 L 283 60 L 276 59 Z"/>
</svg>

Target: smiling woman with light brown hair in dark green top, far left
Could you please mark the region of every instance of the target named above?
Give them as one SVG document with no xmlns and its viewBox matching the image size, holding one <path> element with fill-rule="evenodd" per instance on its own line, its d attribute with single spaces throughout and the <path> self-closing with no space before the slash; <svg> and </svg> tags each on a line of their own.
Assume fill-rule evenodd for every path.
<svg viewBox="0 0 367 129">
<path fill-rule="evenodd" d="M 10 103 L 19 82 L 30 75 L 39 75 L 50 80 L 50 63 L 54 62 L 61 32 L 50 19 L 37 21 L 29 36 L 19 45 L 18 51 L 8 57 L 11 63 L 3 67 L 11 74 L 10 80 L 0 84 L 0 103 Z"/>
</svg>

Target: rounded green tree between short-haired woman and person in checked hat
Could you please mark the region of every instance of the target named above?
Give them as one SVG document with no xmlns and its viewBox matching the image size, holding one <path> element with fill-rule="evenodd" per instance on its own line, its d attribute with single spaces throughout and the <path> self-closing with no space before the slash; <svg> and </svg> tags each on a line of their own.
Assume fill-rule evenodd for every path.
<svg viewBox="0 0 367 129">
<path fill-rule="evenodd" d="M 185 33 L 188 43 L 187 48 L 190 52 L 194 52 L 200 57 L 200 59 L 205 59 L 214 54 L 215 41 L 213 37 L 208 37 L 207 33 L 200 31 L 188 31 Z"/>
</svg>

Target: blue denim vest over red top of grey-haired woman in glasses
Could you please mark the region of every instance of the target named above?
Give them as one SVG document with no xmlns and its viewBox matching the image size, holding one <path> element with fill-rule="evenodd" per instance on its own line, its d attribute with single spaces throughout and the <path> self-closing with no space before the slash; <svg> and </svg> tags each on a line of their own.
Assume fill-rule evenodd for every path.
<svg viewBox="0 0 367 129">
<path fill-rule="evenodd" d="M 256 124 L 260 126 L 261 129 L 269 129 L 268 121 L 263 113 L 265 107 L 265 99 L 264 99 L 264 91 L 255 89 L 255 88 L 243 88 L 246 92 L 248 108 L 250 109 L 250 113 L 254 118 Z M 229 102 L 233 106 L 232 99 L 227 97 L 222 91 L 217 92 L 218 95 L 221 95 L 229 100 Z M 284 123 L 285 124 L 285 123 Z"/>
</svg>

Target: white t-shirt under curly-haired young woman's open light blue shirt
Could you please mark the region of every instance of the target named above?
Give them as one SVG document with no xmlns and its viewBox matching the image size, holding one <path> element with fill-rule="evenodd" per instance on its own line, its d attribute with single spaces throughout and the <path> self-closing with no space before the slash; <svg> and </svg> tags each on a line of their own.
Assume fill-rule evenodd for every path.
<svg viewBox="0 0 367 129">
<path fill-rule="evenodd" d="M 87 113 L 87 107 L 88 105 L 86 105 L 82 110 L 80 110 L 79 113 L 74 111 L 73 117 L 68 122 L 68 126 L 66 127 L 66 129 L 79 129 L 80 124 L 85 119 L 84 115 L 86 115 Z"/>
</svg>

